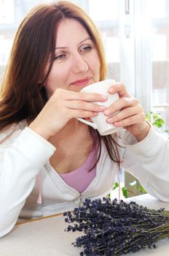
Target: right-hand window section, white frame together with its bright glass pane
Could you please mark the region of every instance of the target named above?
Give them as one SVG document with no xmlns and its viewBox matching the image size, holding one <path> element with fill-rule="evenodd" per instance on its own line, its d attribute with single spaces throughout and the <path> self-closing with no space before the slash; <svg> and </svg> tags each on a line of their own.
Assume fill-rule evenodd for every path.
<svg viewBox="0 0 169 256">
<path fill-rule="evenodd" d="M 169 1 L 130 1 L 133 7 L 135 97 L 162 114 L 169 128 Z"/>
</svg>

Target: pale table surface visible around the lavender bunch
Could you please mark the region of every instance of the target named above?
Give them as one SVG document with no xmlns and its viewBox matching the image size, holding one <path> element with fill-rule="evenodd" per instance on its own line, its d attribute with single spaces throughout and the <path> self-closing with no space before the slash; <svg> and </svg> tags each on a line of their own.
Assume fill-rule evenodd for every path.
<svg viewBox="0 0 169 256">
<path fill-rule="evenodd" d="M 162 203 L 150 195 L 127 198 L 149 208 L 169 209 L 169 203 Z M 43 219 L 16 225 L 4 238 L 0 238 L 1 256 L 77 256 L 82 251 L 71 245 L 82 233 L 65 232 L 67 227 L 63 215 L 44 217 Z M 128 253 L 133 256 L 168 256 L 169 239 L 157 242 L 157 249 L 144 249 Z"/>
</svg>

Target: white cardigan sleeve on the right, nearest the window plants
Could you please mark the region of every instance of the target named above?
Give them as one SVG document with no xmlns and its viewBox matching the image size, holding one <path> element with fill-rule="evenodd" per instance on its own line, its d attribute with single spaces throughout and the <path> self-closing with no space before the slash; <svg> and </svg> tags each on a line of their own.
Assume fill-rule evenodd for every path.
<svg viewBox="0 0 169 256">
<path fill-rule="evenodd" d="M 169 202 L 169 140 L 151 127 L 144 140 L 137 143 L 125 132 L 122 167 L 133 174 L 149 194 Z"/>
</svg>

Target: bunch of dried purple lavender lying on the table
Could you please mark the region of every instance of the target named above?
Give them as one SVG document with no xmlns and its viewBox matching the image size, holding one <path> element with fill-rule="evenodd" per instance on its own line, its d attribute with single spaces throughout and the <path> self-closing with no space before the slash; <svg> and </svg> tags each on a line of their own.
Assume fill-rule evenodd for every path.
<svg viewBox="0 0 169 256">
<path fill-rule="evenodd" d="M 83 231 L 74 246 L 82 246 L 81 256 L 122 255 L 155 248 L 155 242 L 169 238 L 169 211 L 150 210 L 135 202 L 117 199 L 86 199 L 83 206 L 63 214 L 66 231 Z"/>
</svg>

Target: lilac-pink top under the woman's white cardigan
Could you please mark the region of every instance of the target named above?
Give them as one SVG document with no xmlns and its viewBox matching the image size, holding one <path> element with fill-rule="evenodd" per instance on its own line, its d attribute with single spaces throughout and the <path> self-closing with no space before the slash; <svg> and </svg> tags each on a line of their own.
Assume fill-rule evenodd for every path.
<svg viewBox="0 0 169 256">
<path fill-rule="evenodd" d="M 73 187 L 79 193 L 84 192 L 84 190 L 87 189 L 91 181 L 93 181 L 96 176 L 96 166 L 92 170 L 90 170 L 90 168 L 96 162 L 97 157 L 98 139 L 96 137 L 96 143 L 90 151 L 90 154 L 84 164 L 76 170 L 73 170 L 71 173 L 60 174 L 60 177 L 63 178 L 68 186 Z"/>
</svg>

